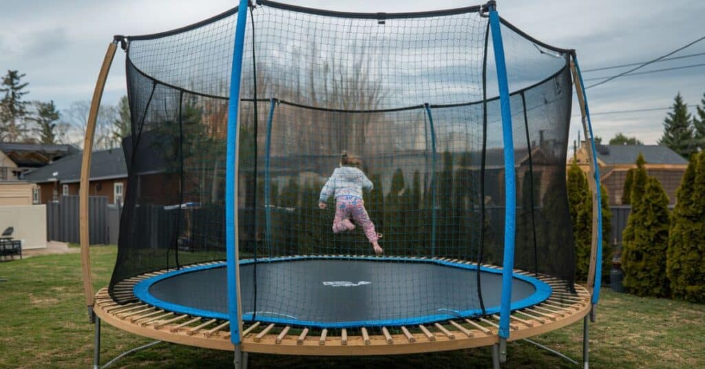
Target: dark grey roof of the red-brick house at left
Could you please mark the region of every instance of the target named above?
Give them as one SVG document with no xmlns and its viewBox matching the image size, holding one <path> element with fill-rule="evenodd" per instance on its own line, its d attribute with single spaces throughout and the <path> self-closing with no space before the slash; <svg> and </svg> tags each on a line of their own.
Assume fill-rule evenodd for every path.
<svg viewBox="0 0 705 369">
<path fill-rule="evenodd" d="M 61 181 L 71 183 L 80 181 L 81 161 L 83 154 L 63 157 L 45 167 L 25 173 L 24 181 L 44 183 Z M 91 157 L 90 179 L 115 179 L 128 176 L 125 166 L 125 156 L 122 149 L 109 149 L 93 152 Z"/>
</svg>

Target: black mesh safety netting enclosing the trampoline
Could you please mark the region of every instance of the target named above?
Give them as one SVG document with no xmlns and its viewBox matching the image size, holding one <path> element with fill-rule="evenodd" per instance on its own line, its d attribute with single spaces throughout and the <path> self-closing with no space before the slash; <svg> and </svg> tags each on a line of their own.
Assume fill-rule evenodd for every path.
<svg viewBox="0 0 705 369">
<path fill-rule="evenodd" d="M 233 9 L 181 30 L 128 37 L 132 133 L 123 147 L 129 180 L 111 291 L 137 274 L 225 259 L 236 17 Z M 250 305 L 243 306 L 246 313 L 310 304 L 295 298 L 310 296 L 303 291 L 286 299 L 261 291 L 276 291 L 264 284 L 285 281 L 290 289 L 307 289 L 290 282 L 315 270 L 290 263 L 258 278 L 257 262 L 374 255 L 377 234 L 387 257 L 502 265 L 504 157 L 488 20 L 479 7 L 380 17 L 269 1 L 250 9 L 237 173 L 240 258 L 256 260 L 243 268 L 252 273 L 242 278 L 252 283 L 243 287 L 243 294 L 252 294 L 243 297 Z M 508 23 L 502 32 L 517 172 L 515 267 L 572 283 L 565 188 L 568 52 Z M 341 160 L 348 162 L 341 167 Z M 340 232 L 333 231 L 336 224 Z M 388 280 L 375 283 L 434 277 L 380 273 Z M 482 310 L 482 289 L 464 280 L 479 277 L 468 270 L 465 277 L 443 280 L 432 296 L 386 293 L 400 305 L 427 311 L 429 304 L 457 302 L 456 291 L 470 288 L 462 300 Z M 206 285 L 183 293 L 222 291 Z"/>
</svg>

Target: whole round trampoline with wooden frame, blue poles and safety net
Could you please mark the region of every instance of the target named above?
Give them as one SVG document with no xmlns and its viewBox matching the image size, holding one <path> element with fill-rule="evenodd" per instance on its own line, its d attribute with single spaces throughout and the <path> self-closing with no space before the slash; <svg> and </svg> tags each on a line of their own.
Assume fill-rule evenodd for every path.
<svg viewBox="0 0 705 369">
<path fill-rule="evenodd" d="M 98 110 L 125 52 L 130 132 L 118 254 L 94 294 L 88 188 Z M 495 1 L 356 13 L 275 1 L 116 35 L 80 185 L 86 305 L 161 341 L 247 353 L 491 347 L 598 302 L 601 203 L 575 50 Z M 593 159 L 590 270 L 575 281 L 566 188 L 573 92 Z"/>
</svg>

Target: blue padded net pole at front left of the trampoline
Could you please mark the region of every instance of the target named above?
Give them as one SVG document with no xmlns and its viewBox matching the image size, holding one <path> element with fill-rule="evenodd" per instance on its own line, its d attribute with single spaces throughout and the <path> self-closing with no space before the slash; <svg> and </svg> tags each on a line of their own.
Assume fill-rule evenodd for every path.
<svg viewBox="0 0 705 369">
<path fill-rule="evenodd" d="M 225 176 L 225 242 L 228 274 L 228 317 L 231 341 L 240 344 L 240 281 L 238 278 L 238 131 L 240 118 L 240 78 L 243 74 L 243 49 L 245 49 L 245 24 L 247 0 L 240 0 L 238 23 L 235 25 L 235 47 L 230 75 L 230 100 L 228 102 L 228 143 Z"/>
</svg>

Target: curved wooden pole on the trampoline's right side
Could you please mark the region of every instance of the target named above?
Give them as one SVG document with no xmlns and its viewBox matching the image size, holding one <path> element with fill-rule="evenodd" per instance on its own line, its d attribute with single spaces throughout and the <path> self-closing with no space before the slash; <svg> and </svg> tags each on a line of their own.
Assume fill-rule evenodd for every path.
<svg viewBox="0 0 705 369">
<path fill-rule="evenodd" d="M 580 115 L 582 116 L 582 129 L 585 135 L 585 140 L 590 139 L 589 131 L 587 129 L 587 111 L 585 110 L 585 97 L 582 95 L 582 86 L 580 85 L 580 78 L 577 75 L 577 70 L 575 69 L 575 63 L 570 61 L 570 71 L 573 76 L 573 83 L 575 83 L 575 92 L 577 93 L 577 101 L 580 104 Z M 595 272 L 597 265 L 597 212 L 599 212 L 599 207 L 601 204 L 597 203 L 597 183 L 595 181 L 595 169 L 592 158 L 594 152 L 592 152 L 592 145 L 585 145 L 588 152 L 588 164 L 589 164 L 589 176 L 587 176 L 587 182 L 590 186 L 590 193 L 592 196 L 592 243 L 590 248 L 590 267 L 587 272 L 587 289 L 592 294 L 592 289 L 595 286 Z M 601 272 L 601 271 L 600 271 Z"/>
</svg>

